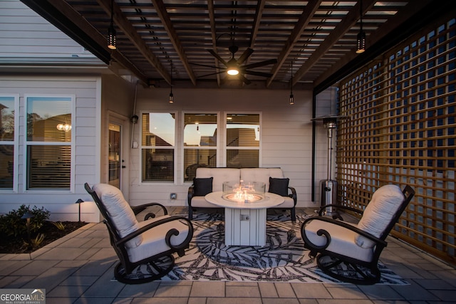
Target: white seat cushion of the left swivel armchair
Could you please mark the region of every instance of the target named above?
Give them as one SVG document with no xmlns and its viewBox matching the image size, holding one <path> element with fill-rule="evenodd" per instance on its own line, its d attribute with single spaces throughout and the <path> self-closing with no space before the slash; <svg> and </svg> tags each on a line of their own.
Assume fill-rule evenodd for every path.
<svg viewBox="0 0 456 304">
<path fill-rule="evenodd" d="M 140 227 L 143 227 L 153 221 L 164 219 L 165 217 L 170 216 L 160 216 L 156 219 L 141 221 L 139 225 Z M 180 245 L 183 241 L 185 241 L 185 238 L 187 238 L 189 228 L 186 224 L 183 224 L 179 220 L 170 221 L 168 223 L 161 224 L 157 227 L 149 229 L 142 234 L 142 242 L 140 243 L 140 246 L 135 248 L 127 248 L 130 262 L 135 263 L 145 258 L 150 258 L 151 256 L 155 256 L 157 254 L 170 250 L 170 247 L 168 247 L 165 242 L 165 235 L 167 231 L 170 231 L 170 229 L 177 229 L 177 231 L 179 231 L 179 234 L 177 236 L 171 237 L 171 243 L 173 245 Z"/>
</svg>

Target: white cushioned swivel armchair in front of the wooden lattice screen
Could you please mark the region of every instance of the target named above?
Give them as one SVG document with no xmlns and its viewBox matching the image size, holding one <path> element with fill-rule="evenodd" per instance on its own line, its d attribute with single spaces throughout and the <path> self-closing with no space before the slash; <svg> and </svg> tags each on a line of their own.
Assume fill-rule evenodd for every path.
<svg viewBox="0 0 456 304">
<path fill-rule="evenodd" d="M 318 267 L 333 278 L 361 285 L 378 283 L 378 259 L 387 246 L 386 236 L 414 195 L 410 186 L 401 191 L 388 184 L 373 193 L 364 211 L 336 204 L 323 206 L 318 216 L 306 219 L 301 226 L 304 247 L 316 256 Z M 358 224 L 348 224 L 322 216 L 329 206 L 362 214 L 361 219 Z"/>
</svg>

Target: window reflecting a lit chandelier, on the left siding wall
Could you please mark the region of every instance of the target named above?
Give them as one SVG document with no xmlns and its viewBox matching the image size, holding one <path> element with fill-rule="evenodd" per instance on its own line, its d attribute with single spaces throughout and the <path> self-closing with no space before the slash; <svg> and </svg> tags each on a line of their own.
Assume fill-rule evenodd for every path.
<svg viewBox="0 0 456 304">
<path fill-rule="evenodd" d="M 26 97 L 27 189 L 70 189 L 71 97 Z"/>
</svg>

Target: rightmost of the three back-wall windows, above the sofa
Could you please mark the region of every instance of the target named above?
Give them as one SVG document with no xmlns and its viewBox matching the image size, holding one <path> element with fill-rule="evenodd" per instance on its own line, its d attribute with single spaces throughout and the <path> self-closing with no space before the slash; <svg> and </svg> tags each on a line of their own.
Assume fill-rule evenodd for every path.
<svg viewBox="0 0 456 304">
<path fill-rule="evenodd" d="M 227 167 L 259 167 L 259 114 L 227 114 Z"/>
</svg>

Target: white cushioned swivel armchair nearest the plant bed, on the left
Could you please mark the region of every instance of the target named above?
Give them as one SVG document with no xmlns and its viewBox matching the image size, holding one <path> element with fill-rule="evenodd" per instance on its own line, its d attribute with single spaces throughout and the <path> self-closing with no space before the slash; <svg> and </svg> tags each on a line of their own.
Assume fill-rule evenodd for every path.
<svg viewBox="0 0 456 304">
<path fill-rule="evenodd" d="M 174 267 L 173 253 L 185 254 L 193 236 L 192 222 L 184 216 L 169 216 L 165 206 L 158 203 L 130 206 L 122 192 L 110 184 L 86 183 L 108 227 L 111 246 L 119 258 L 114 276 L 122 283 L 145 283 L 165 276 Z M 150 212 L 138 222 L 141 211 L 158 206 L 164 215 Z M 131 276 L 138 266 L 145 265 L 147 273 Z"/>
</svg>

